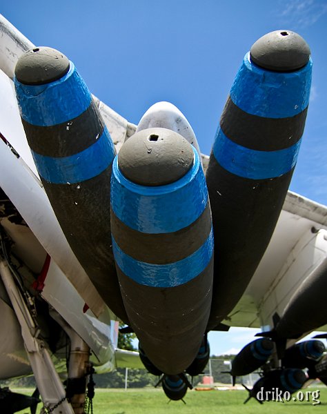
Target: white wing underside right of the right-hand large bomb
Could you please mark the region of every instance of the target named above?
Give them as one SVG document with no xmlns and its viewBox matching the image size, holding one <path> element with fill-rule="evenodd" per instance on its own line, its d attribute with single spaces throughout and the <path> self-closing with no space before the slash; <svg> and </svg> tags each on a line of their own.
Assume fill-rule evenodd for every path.
<svg viewBox="0 0 327 414">
<path fill-rule="evenodd" d="M 273 327 L 297 288 L 327 255 L 327 208 L 288 191 L 270 244 L 239 303 L 224 321 L 230 326 Z M 308 309 L 310 304 L 308 304 Z M 321 326 L 325 331 L 326 326 Z"/>
</svg>

